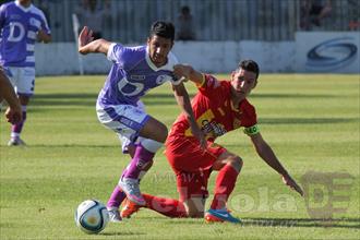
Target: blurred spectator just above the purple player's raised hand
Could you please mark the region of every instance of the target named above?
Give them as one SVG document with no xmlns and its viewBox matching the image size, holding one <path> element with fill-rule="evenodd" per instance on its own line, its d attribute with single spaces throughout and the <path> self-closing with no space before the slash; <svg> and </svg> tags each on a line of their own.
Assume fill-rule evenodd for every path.
<svg viewBox="0 0 360 240">
<path fill-rule="evenodd" d="M 97 0 L 83 0 L 77 14 L 81 25 L 93 31 L 94 40 L 103 38 L 103 22 L 109 14 L 109 1 L 105 1 L 105 8 L 100 8 Z"/>
</svg>

